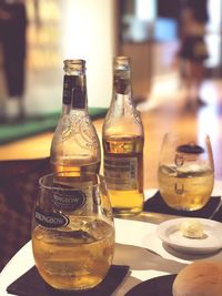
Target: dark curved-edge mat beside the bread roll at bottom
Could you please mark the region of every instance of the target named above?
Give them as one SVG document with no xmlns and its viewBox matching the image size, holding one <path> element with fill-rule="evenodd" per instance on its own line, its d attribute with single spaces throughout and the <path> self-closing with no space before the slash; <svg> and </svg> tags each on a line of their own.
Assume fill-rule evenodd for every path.
<svg viewBox="0 0 222 296">
<path fill-rule="evenodd" d="M 172 296 L 172 285 L 176 274 L 163 275 L 144 280 L 124 296 Z"/>
</svg>

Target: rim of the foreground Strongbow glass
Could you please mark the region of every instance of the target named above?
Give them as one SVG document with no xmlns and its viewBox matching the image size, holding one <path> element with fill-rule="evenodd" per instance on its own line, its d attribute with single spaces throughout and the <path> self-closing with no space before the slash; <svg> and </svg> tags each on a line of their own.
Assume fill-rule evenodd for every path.
<svg viewBox="0 0 222 296">
<path fill-rule="evenodd" d="M 68 171 L 68 172 L 64 172 L 64 173 L 73 173 L 73 171 Z M 92 180 L 87 180 L 87 181 L 79 181 L 78 183 L 80 184 L 82 182 L 82 186 L 77 186 L 77 187 L 62 187 L 59 183 L 58 183 L 58 186 L 56 185 L 47 185 L 44 184 L 44 180 L 47 178 L 50 178 L 50 177 L 53 177 L 53 176 L 58 176 L 60 174 L 63 174 L 63 172 L 58 172 L 58 173 L 49 173 L 49 174 L 44 174 L 42 175 L 40 178 L 39 178 L 39 186 L 44 188 L 44 190 L 51 190 L 51 191 L 79 191 L 80 188 L 93 188 L 93 187 L 98 187 L 100 186 L 101 183 L 104 183 L 104 176 L 101 175 L 101 174 L 83 174 L 83 176 L 97 176 L 97 181 L 98 183 L 97 184 L 89 184 L 89 182 L 92 183 Z M 78 178 L 78 177 L 81 177 L 81 176 L 64 176 L 64 177 L 73 177 L 73 178 Z"/>
</svg>

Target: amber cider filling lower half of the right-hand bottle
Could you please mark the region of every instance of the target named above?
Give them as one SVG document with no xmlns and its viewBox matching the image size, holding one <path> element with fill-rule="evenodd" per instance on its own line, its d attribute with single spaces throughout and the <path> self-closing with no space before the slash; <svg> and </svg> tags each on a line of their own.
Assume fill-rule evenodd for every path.
<svg viewBox="0 0 222 296">
<path fill-rule="evenodd" d="M 115 216 L 142 211 L 143 141 L 129 135 L 103 139 L 104 176 Z"/>
</svg>

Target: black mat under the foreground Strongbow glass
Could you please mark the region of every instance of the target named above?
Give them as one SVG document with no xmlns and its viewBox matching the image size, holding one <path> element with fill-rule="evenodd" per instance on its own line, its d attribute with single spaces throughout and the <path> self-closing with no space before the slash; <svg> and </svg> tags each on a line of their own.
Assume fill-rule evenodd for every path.
<svg viewBox="0 0 222 296">
<path fill-rule="evenodd" d="M 107 277 L 97 287 L 83 292 L 58 292 L 40 277 L 33 266 L 7 288 L 9 294 L 18 296 L 110 296 L 129 272 L 127 265 L 112 265 Z"/>
</svg>

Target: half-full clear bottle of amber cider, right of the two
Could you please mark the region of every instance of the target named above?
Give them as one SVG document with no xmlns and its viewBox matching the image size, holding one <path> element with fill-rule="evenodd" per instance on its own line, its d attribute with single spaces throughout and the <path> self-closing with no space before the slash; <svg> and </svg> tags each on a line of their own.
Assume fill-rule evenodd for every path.
<svg viewBox="0 0 222 296">
<path fill-rule="evenodd" d="M 113 62 L 113 94 L 102 129 L 104 177 L 115 216 L 131 216 L 143 208 L 144 132 L 132 101 L 128 57 Z"/>
</svg>

